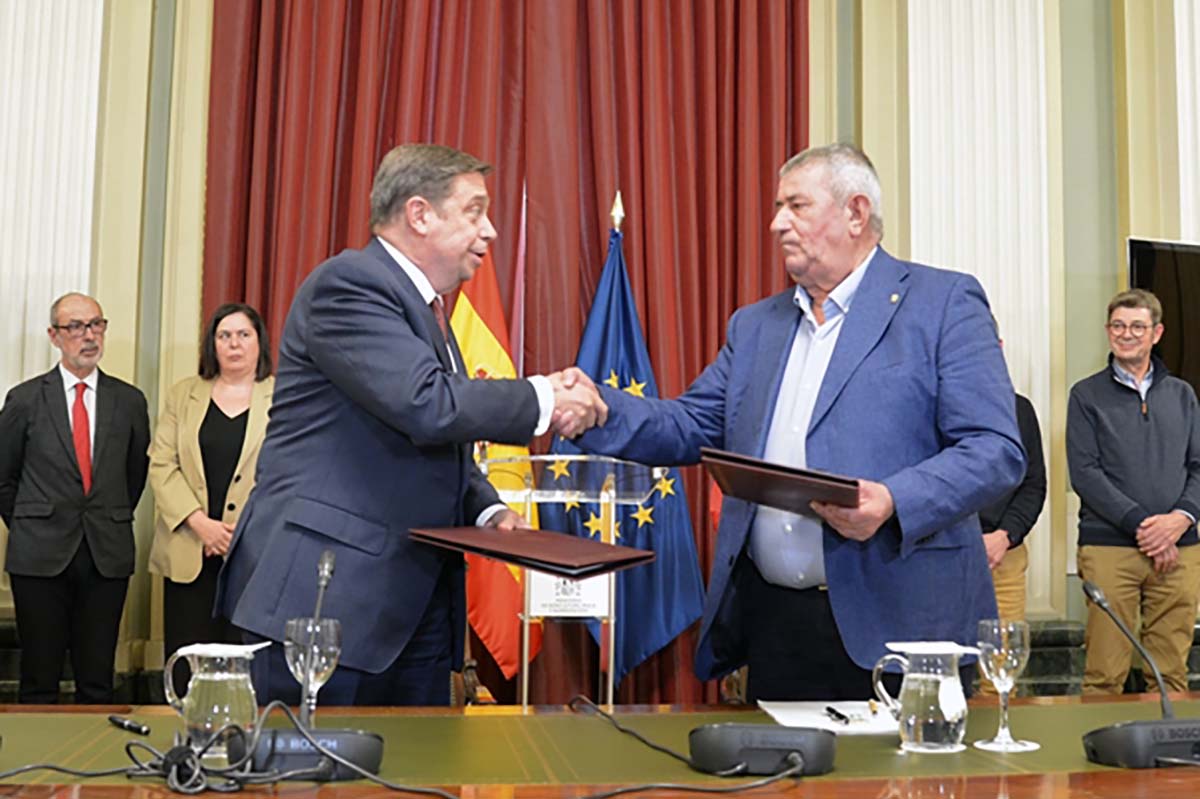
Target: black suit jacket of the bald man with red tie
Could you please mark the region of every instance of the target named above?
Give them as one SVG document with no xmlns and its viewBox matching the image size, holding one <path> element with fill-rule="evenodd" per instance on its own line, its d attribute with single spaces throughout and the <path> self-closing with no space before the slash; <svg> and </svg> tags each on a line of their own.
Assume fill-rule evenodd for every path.
<svg viewBox="0 0 1200 799">
<path fill-rule="evenodd" d="M 10 573 L 59 575 L 85 536 L 101 575 L 133 573 L 133 507 L 149 464 L 145 396 L 101 372 L 92 423 L 85 497 L 58 366 L 8 392 L 0 410 L 0 517 Z"/>
</svg>

